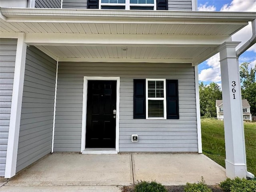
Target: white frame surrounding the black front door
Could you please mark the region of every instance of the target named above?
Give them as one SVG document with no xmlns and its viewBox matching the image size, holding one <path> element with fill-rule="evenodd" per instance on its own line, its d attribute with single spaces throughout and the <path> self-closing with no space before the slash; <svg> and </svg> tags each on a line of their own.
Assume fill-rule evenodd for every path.
<svg viewBox="0 0 256 192">
<path fill-rule="evenodd" d="M 87 114 L 87 86 L 88 80 L 116 80 L 116 149 L 115 150 L 86 150 L 86 114 Z M 83 110 L 82 110 L 82 154 L 117 154 L 119 152 L 119 101 L 120 77 L 88 77 L 84 76 Z"/>
</svg>

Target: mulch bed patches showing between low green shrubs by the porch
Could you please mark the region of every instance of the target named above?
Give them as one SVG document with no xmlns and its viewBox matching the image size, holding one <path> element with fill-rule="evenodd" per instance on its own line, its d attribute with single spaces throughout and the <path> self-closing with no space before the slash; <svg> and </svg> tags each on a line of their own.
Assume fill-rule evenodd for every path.
<svg viewBox="0 0 256 192">
<path fill-rule="evenodd" d="M 165 186 L 168 192 L 184 192 L 184 186 Z M 212 192 L 224 192 L 218 185 L 210 185 L 208 186 Z M 124 186 L 123 192 L 134 192 L 134 186 Z"/>
</svg>

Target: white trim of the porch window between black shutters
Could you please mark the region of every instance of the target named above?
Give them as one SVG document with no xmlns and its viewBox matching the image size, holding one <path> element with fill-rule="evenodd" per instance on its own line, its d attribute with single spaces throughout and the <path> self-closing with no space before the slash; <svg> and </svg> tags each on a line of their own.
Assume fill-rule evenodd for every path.
<svg viewBox="0 0 256 192">
<path fill-rule="evenodd" d="M 164 98 L 148 98 L 148 81 L 164 81 Z M 148 100 L 164 100 L 164 117 L 148 117 Z M 146 119 L 166 119 L 166 79 L 146 79 Z"/>
</svg>

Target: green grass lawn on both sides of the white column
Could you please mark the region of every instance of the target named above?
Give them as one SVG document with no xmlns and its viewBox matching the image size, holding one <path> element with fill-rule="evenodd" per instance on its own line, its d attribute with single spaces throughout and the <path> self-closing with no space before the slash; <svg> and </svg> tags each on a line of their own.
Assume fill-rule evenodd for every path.
<svg viewBox="0 0 256 192">
<path fill-rule="evenodd" d="M 202 118 L 203 154 L 225 167 L 224 122 Z M 247 170 L 256 176 L 256 122 L 244 122 Z"/>
</svg>

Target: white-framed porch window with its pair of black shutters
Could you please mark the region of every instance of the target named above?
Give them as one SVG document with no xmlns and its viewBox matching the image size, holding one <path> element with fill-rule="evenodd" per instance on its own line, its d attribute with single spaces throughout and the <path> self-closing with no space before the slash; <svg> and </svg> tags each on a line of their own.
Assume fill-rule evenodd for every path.
<svg viewBox="0 0 256 192">
<path fill-rule="evenodd" d="M 134 119 L 179 119 L 178 80 L 134 79 Z"/>
</svg>

